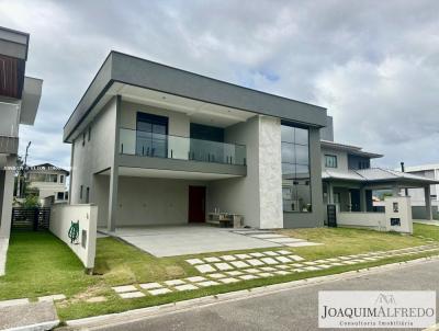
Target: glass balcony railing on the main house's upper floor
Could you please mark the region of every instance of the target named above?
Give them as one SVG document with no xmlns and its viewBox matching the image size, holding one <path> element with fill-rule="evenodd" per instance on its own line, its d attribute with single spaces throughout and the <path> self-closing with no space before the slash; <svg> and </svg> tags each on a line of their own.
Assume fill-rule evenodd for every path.
<svg viewBox="0 0 439 331">
<path fill-rule="evenodd" d="M 120 129 L 120 153 L 246 166 L 246 146 Z"/>
</svg>

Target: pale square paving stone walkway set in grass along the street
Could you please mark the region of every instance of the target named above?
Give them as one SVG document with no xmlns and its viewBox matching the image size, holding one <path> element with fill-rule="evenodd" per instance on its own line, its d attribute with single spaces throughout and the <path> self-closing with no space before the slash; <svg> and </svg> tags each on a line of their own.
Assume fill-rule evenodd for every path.
<svg viewBox="0 0 439 331">
<path fill-rule="evenodd" d="M 115 286 L 113 290 L 124 299 L 139 298 L 148 295 L 158 296 L 172 292 L 194 290 L 256 278 L 354 265 L 423 252 L 439 253 L 439 244 L 432 243 L 416 248 L 370 252 L 315 261 L 306 261 L 306 259 L 286 250 L 188 259 L 185 262 L 195 267 L 201 275 L 165 282 Z"/>
</svg>

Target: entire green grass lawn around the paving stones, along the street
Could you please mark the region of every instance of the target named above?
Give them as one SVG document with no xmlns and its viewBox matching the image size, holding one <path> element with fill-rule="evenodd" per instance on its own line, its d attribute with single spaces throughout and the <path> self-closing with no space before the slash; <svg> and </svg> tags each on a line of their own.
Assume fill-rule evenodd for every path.
<svg viewBox="0 0 439 331">
<path fill-rule="evenodd" d="M 415 247 L 426 244 L 427 239 L 425 238 L 435 238 L 439 241 L 439 228 L 424 225 L 415 225 L 415 236 L 424 236 L 425 238 L 346 228 L 297 229 L 281 230 L 280 232 L 295 238 L 305 238 L 311 241 L 325 243 L 324 246 L 317 247 L 291 249 L 294 253 L 308 260 Z M 214 256 L 225 253 L 226 252 L 210 253 L 206 255 Z M 227 253 L 236 253 L 236 251 Z M 184 260 L 188 258 L 202 258 L 204 255 L 159 259 L 116 239 L 101 238 L 98 240 L 97 247 L 97 274 L 91 276 L 83 273 L 81 263 L 70 252 L 68 247 L 50 233 L 16 232 L 12 235 L 10 241 L 7 276 L 0 277 L 0 299 L 20 297 L 35 298 L 42 295 L 63 293 L 68 299 L 57 303 L 57 309 L 59 317 L 66 320 L 124 311 L 300 278 L 341 273 L 385 263 L 406 261 L 425 255 L 428 254 L 423 253 L 419 255 L 392 258 L 358 265 L 345 265 L 315 272 L 258 278 L 185 293 L 171 293 L 157 297 L 146 296 L 138 299 L 123 300 L 114 294 L 111 286 L 199 275 L 198 271 L 185 263 Z M 87 303 L 87 299 L 92 296 L 104 296 L 106 301 L 95 304 Z"/>
</svg>

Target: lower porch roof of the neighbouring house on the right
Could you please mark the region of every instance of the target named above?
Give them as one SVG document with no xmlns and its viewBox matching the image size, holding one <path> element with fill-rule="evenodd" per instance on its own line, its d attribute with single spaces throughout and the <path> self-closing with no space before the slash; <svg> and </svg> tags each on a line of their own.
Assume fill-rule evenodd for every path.
<svg viewBox="0 0 439 331">
<path fill-rule="evenodd" d="M 402 182 L 419 185 L 438 184 L 439 180 L 431 180 L 421 175 L 410 174 L 406 172 L 371 168 L 361 170 L 324 170 L 322 172 L 322 180 L 340 180 L 340 181 L 354 181 L 364 183 L 380 183 L 380 182 Z"/>
</svg>

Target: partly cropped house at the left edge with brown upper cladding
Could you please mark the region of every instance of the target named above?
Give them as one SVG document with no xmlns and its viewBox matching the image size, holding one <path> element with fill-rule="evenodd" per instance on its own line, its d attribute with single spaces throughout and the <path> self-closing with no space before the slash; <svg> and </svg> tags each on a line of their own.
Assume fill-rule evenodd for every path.
<svg viewBox="0 0 439 331">
<path fill-rule="evenodd" d="M 43 81 L 25 77 L 29 34 L 0 27 L 0 237 L 9 238 L 19 125 L 33 125 Z M 1 260 L 1 259 L 0 259 Z"/>
</svg>

